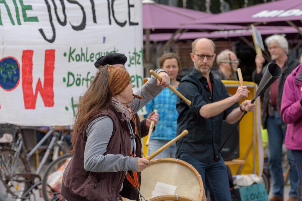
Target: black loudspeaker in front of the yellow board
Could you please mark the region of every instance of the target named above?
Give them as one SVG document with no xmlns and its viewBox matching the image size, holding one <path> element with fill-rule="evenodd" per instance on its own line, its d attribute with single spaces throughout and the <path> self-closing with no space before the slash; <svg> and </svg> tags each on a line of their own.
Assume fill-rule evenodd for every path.
<svg viewBox="0 0 302 201">
<path fill-rule="evenodd" d="M 235 103 L 234 108 L 238 108 L 238 102 Z M 237 123 L 237 122 L 236 122 Z M 225 120 L 222 123 L 221 144 L 226 140 L 230 132 L 233 130 L 235 124 L 228 124 Z M 221 149 L 221 155 L 224 161 L 239 158 L 239 125 L 236 127 L 230 138 L 226 141 Z"/>
</svg>

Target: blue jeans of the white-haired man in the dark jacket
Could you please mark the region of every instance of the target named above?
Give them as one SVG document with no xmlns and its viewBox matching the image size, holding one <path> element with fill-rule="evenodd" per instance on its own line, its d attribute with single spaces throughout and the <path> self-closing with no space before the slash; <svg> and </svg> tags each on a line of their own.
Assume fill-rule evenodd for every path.
<svg viewBox="0 0 302 201">
<path fill-rule="evenodd" d="M 278 112 L 274 112 L 273 117 L 267 118 L 268 132 L 268 163 L 273 179 L 273 195 L 283 197 L 284 178 L 282 169 L 282 143 L 285 137 L 286 128 L 282 128 L 282 118 Z M 287 150 L 288 163 L 290 165 L 289 180 L 291 182 L 290 196 L 297 197 L 298 173 L 294 165 L 294 158 L 291 150 Z"/>
</svg>

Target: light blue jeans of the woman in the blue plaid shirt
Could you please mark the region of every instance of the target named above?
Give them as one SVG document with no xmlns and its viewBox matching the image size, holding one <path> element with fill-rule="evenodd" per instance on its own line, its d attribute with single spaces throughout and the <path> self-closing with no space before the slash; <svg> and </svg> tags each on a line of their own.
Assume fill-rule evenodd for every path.
<svg viewBox="0 0 302 201">
<path fill-rule="evenodd" d="M 161 148 L 169 141 L 170 140 L 150 140 L 149 148 L 148 148 L 148 155 L 153 154 L 157 149 Z M 172 144 L 167 149 L 165 149 L 159 155 L 157 155 L 154 159 L 169 158 L 170 154 L 171 154 L 171 158 L 175 159 L 175 154 L 176 154 L 176 144 L 175 143 Z"/>
</svg>

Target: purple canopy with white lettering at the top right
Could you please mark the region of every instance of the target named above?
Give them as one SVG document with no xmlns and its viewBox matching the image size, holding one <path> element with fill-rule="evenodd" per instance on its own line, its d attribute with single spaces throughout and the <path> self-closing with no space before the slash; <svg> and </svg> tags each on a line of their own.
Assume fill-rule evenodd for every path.
<svg viewBox="0 0 302 201">
<path fill-rule="evenodd" d="M 236 24 L 268 26 L 302 26 L 302 0 L 279 0 L 267 2 L 247 8 L 239 8 L 233 11 L 216 14 L 204 19 L 201 17 L 194 22 L 188 20 L 188 24 Z M 293 25 L 294 24 L 294 25 Z"/>
</svg>

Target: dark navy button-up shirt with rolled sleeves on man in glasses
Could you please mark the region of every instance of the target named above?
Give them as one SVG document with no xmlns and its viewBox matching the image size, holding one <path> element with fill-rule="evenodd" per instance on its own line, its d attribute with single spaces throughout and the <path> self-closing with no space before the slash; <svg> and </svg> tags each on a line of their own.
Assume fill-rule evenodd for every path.
<svg viewBox="0 0 302 201">
<path fill-rule="evenodd" d="M 176 142 L 176 157 L 181 153 L 187 153 L 193 158 L 206 163 L 220 160 L 220 148 L 222 121 L 234 109 L 233 106 L 211 118 L 203 118 L 199 110 L 203 105 L 217 102 L 229 97 L 226 87 L 221 80 L 214 78 L 210 72 L 212 92 L 209 90 L 207 78 L 195 68 L 182 78 L 178 85 L 178 91 L 182 93 L 192 104 L 177 97 L 176 108 L 179 113 L 177 119 L 177 135 L 183 130 L 189 131 L 188 135 Z"/>
</svg>

